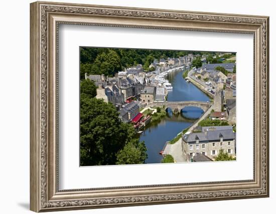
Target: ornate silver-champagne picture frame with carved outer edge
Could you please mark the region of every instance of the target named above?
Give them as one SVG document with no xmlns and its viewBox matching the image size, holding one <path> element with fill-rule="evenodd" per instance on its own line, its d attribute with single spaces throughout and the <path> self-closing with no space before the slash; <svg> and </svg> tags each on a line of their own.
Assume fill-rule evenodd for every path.
<svg viewBox="0 0 276 214">
<path fill-rule="evenodd" d="M 269 196 L 269 18 L 35 2 L 31 11 L 30 209 L 36 212 Z M 252 34 L 253 179 L 59 189 L 59 25 Z M 242 90 L 242 89 L 241 89 Z M 77 142 L 76 142 L 77 143 Z M 93 181 L 91 181 L 93 182 Z"/>
</svg>

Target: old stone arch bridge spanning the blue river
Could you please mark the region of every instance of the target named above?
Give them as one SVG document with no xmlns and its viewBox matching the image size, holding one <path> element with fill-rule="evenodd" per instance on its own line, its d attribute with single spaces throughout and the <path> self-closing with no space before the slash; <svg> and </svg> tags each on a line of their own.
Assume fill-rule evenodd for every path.
<svg viewBox="0 0 276 214">
<path fill-rule="evenodd" d="M 187 106 L 194 106 L 201 108 L 204 112 L 206 112 L 210 107 L 211 103 L 209 102 L 202 102 L 202 101 L 180 101 L 180 102 L 153 102 L 151 105 L 152 107 L 162 107 L 165 106 L 165 109 L 171 108 L 173 111 L 178 109 L 180 112 L 181 109 Z"/>
</svg>

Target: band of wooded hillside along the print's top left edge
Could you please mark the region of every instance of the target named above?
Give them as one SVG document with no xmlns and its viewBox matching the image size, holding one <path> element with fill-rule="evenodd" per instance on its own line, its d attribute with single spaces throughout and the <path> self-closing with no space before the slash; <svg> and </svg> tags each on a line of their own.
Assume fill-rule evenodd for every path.
<svg viewBox="0 0 276 214">
<path fill-rule="evenodd" d="M 124 68 L 142 64 L 144 70 L 149 68 L 155 59 L 178 58 L 191 54 L 204 54 L 204 52 L 187 52 L 174 50 L 148 50 L 148 49 L 122 49 L 122 48 L 80 48 L 80 77 L 84 74 L 105 74 L 114 76 Z"/>
</svg>

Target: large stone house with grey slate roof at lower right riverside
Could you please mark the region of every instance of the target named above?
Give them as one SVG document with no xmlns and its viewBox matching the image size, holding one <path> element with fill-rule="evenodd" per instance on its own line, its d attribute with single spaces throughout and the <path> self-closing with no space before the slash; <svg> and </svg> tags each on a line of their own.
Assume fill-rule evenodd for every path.
<svg viewBox="0 0 276 214">
<path fill-rule="evenodd" d="M 182 136 L 182 151 L 186 161 L 203 154 L 214 160 L 220 149 L 235 157 L 236 133 L 232 126 L 202 127 L 202 132 Z"/>
</svg>

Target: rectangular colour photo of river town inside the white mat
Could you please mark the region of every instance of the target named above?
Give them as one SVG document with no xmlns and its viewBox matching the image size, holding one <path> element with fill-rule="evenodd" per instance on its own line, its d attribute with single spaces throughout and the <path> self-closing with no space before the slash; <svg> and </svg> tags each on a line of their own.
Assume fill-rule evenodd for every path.
<svg viewBox="0 0 276 214">
<path fill-rule="evenodd" d="M 80 47 L 80 165 L 236 159 L 236 53 Z"/>
</svg>

